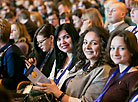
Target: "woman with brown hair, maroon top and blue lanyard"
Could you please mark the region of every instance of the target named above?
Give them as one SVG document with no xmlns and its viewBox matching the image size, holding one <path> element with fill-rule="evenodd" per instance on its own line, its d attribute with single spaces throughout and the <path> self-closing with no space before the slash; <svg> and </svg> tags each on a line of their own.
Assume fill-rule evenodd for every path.
<svg viewBox="0 0 138 102">
<path fill-rule="evenodd" d="M 107 44 L 109 61 L 117 66 L 110 70 L 110 77 L 95 102 L 125 102 L 138 81 L 138 46 L 132 32 L 118 31 L 110 36 Z"/>
</svg>

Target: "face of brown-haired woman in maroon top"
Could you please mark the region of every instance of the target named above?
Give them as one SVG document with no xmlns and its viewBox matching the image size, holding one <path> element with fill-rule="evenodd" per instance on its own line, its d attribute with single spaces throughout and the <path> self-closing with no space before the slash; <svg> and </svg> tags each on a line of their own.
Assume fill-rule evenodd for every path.
<svg viewBox="0 0 138 102">
<path fill-rule="evenodd" d="M 116 36 L 110 46 L 110 57 L 115 64 L 129 65 L 131 53 L 128 51 L 124 38 Z"/>
</svg>

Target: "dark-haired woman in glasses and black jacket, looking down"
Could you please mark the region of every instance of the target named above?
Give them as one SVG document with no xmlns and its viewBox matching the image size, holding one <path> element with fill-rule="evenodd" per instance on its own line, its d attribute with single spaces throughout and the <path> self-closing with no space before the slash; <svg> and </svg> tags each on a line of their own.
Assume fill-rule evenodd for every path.
<svg viewBox="0 0 138 102">
<path fill-rule="evenodd" d="M 47 77 L 50 75 L 55 60 L 53 46 L 54 33 L 55 28 L 51 24 L 44 24 L 36 30 L 33 42 L 34 50 L 32 53 L 32 56 L 35 58 L 28 60 L 30 63 L 34 62 L 35 66 Z M 29 68 L 30 65 L 27 67 Z"/>
</svg>

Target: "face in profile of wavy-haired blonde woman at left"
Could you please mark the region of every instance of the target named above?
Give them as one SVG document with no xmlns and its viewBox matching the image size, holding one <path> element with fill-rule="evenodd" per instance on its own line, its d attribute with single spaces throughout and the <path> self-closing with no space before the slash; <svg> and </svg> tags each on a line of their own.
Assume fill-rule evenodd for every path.
<svg viewBox="0 0 138 102">
<path fill-rule="evenodd" d="M 11 34 L 10 39 L 18 39 L 19 38 L 19 31 L 17 29 L 17 26 L 15 24 L 11 25 Z"/>
</svg>

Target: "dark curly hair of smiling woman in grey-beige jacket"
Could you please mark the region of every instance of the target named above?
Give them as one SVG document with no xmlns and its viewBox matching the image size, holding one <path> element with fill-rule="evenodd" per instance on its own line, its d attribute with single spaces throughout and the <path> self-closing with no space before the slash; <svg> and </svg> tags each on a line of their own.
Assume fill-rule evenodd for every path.
<svg viewBox="0 0 138 102">
<path fill-rule="evenodd" d="M 108 38 L 109 38 L 109 33 L 103 27 L 95 26 L 95 27 L 91 27 L 90 29 L 86 30 L 82 34 L 82 36 L 80 37 L 80 40 L 79 40 L 79 43 L 78 43 L 78 49 L 77 49 L 77 52 L 78 52 L 77 53 L 77 58 L 78 58 L 78 60 L 80 60 L 80 63 L 77 65 L 77 70 L 81 69 L 85 65 L 89 64 L 89 63 L 86 64 L 87 58 L 84 55 L 83 50 L 82 50 L 83 40 L 84 40 L 85 35 L 88 32 L 94 32 L 100 39 L 100 55 L 98 57 L 97 62 L 93 66 L 93 68 L 107 63 L 107 61 L 105 60 L 105 57 L 106 57 L 105 48 L 106 48 L 106 44 L 107 44 L 107 41 L 108 41 Z M 91 70 L 93 68 L 91 68 Z"/>
</svg>

